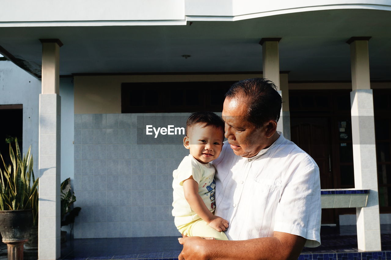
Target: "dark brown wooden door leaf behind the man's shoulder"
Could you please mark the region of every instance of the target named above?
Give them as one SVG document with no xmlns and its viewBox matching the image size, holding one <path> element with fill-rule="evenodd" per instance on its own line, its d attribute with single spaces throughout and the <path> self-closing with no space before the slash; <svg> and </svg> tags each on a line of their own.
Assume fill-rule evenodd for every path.
<svg viewBox="0 0 391 260">
<path fill-rule="evenodd" d="M 333 189 L 329 117 L 291 117 L 291 140 L 319 166 L 321 189 Z M 322 224 L 335 223 L 335 210 L 322 209 Z"/>
</svg>

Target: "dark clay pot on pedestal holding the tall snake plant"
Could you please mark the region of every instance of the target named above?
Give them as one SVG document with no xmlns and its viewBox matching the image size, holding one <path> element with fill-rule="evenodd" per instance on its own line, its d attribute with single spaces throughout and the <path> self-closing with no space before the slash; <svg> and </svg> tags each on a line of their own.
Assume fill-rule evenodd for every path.
<svg viewBox="0 0 391 260">
<path fill-rule="evenodd" d="M 0 232 L 7 244 L 8 260 L 23 260 L 23 244 L 29 239 L 32 210 L 1 210 Z"/>
</svg>

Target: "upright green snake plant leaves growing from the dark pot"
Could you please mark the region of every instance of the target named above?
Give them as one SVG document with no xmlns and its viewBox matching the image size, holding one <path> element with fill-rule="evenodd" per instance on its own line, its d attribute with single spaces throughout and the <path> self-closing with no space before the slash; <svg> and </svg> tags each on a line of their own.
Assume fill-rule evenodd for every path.
<svg viewBox="0 0 391 260">
<path fill-rule="evenodd" d="M 0 210 L 33 210 L 34 223 L 38 216 L 38 178 L 34 178 L 32 171 L 31 146 L 27 155 L 20 154 L 18 140 L 15 139 L 16 154 L 11 144 L 9 156 L 11 164 L 6 165 L 3 156 L 4 170 L 0 167 Z"/>
</svg>

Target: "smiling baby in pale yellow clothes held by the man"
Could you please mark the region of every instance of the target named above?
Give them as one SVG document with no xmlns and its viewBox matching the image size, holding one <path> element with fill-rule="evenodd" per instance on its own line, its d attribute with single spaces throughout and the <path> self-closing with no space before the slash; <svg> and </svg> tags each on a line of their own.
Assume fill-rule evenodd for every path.
<svg viewBox="0 0 391 260">
<path fill-rule="evenodd" d="M 228 240 L 223 231 L 228 221 L 213 215 L 215 168 L 210 163 L 219 157 L 224 141 L 224 121 L 212 112 L 196 112 L 186 122 L 183 145 L 190 154 L 173 172 L 172 215 L 182 235 Z"/>
</svg>

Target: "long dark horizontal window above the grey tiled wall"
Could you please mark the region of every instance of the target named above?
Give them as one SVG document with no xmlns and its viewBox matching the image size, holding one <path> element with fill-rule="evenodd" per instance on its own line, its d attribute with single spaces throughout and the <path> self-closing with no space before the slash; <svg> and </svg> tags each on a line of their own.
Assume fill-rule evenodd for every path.
<svg viewBox="0 0 391 260">
<path fill-rule="evenodd" d="M 221 111 L 233 81 L 122 83 L 122 113 Z"/>
</svg>

